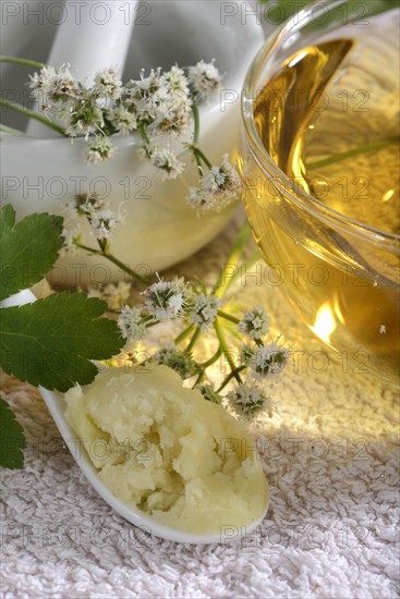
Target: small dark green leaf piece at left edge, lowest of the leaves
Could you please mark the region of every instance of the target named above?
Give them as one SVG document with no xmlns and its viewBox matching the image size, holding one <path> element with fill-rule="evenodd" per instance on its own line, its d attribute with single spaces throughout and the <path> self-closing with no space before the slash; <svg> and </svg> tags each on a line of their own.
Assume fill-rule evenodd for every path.
<svg viewBox="0 0 400 599">
<path fill-rule="evenodd" d="M 24 429 L 5 400 L 0 399 L 0 466 L 22 468 L 26 447 Z"/>
</svg>

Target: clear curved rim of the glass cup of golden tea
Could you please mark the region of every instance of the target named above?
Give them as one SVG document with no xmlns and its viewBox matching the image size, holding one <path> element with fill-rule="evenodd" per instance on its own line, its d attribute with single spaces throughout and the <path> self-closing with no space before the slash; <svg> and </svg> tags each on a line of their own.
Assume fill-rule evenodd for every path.
<svg viewBox="0 0 400 599">
<path fill-rule="evenodd" d="M 348 0 L 334 0 L 329 8 L 337 8 L 340 4 L 348 2 Z M 316 10 L 313 10 L 313 7 Z M 305 7 L 307 11 L 312 11 L 313 16 L 318 16 L 318 9 L 326 10 L 326 4 L 322 7 L 320 0 L 314 0 L 312 3 Z M 319 12 L 319 14 L 320 14 Z M 302 17 L 302 13 L 303 17 Z M 390 252 L 400 253 L 400 234 L 389 233 L 381 229 L 371 227 L 361 220 L 353 219 L 330 208 L 316 197 L 307 194 L 304 190 L 296 187 L 294 193 L 294 183 L 293 180 L 288 176 L 282 169 L 271 159 L 269 154 L 266 151 L 264 144 L 258 135 L 258 132 L 254 122 L 254 98 L 257 96 L 257 78 L 265 65 L 265 61 L 268 59 L 270 52 L 276 48 L 276 46 L 283 42 L 288 37 L 293 35 L 294 32 L 299 30 L 303 25 L 310 23 L 305 10 L 301 10 L 296 20 L 294 17 L 289 19 L 283 26 L 279 27 L 277 32 L 274 32 L 265 41 L 263 47 L 257 52 L 254 58 L 243 84 L 243 91 L 241 97 L 241 112 L 242 112 L 242 123 L 244 125 L 244 131 L 246 134 L 246 139 L 250 144 L 250 150 L 253 155 L 253 158 L 256 160 L 264 173 L 268 173 L 268 178 L 272 174 L 274 179 L 276 178 L 279 182 L 282 182 L 282 190 L 286 196 L 288 196 L 288 190 L 293 193 L 290 195 L 290 200 L 296 204 L 301 209 L 308 212 L 314 218 L 318 218 L 322 221 L 325 221 L 328 224 L 334 224 L 336 229 L 341 229 L 344 231 L 350 231 L 352 234 L 356 234 L 362 239 L 366 239 L 369 243 L 384 245 L 385 249 Z"/>
</svg>

